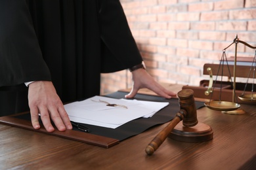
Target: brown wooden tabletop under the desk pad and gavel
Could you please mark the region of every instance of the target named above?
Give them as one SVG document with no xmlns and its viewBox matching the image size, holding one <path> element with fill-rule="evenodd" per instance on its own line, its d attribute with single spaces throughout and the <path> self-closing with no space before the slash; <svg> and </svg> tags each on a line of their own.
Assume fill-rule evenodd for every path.
<svg viewBox="0 0 256 170">
<path fill-rule="evenodd" d="M 203 107 L 198 121 L 213 129 L 213 139 L 185 143 L 167 138 L 152 156 L 150 141 L 167 124 L 101 148 L 0 124 L 0 169 L 253 169 L 256 167 L 256 107 L 245 114 L 223 114 Z"/>
</svg>

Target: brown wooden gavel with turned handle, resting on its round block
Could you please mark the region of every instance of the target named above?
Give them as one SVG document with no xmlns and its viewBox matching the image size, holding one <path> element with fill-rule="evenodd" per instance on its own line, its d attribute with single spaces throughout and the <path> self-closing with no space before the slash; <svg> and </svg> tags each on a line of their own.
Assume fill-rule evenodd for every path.
<svg viewBox="0 0 256 170">
<path fill-rule="evenodd" d="M 146 146 L 146 154 L 152 155 L 158 147 L 165 141 L 173 128 L 183 120 L 183 126 L 192 127 L 198 124 L 196 116 L 196 103 L 194 101 L 194 91 L 190 89 L 181 90 L 178 92 L 179 105 L 181 110 L 177 112 L 175 118 L 166 126 L 154 139 Z"/>
</svg>

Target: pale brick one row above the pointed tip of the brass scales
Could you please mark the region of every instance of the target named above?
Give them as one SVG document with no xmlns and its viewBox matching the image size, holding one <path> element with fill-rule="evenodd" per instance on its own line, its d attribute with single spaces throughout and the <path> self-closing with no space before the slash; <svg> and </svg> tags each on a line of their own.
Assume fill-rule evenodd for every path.
<svg viewBox="0 0 256 170">
<path fill-rule="evenodd" d="M 222 31 L 240 31 L 247 29 L 247 22 L 245 21 L 225 21 L 225 22 L 217 22 L 216 30 Z"/>
</svg>

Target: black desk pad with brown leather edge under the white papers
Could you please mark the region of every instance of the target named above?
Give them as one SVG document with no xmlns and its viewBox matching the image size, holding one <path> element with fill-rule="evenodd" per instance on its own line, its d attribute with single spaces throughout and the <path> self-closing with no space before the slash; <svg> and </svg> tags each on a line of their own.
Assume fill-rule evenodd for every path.
<svg viewBox="0 0 256 170">
<path fill-rule="evenodd" d="M 105 96 L 120 99 L 123 98 L 125 94 L 127 94 L 127 92 L 116 92 Z M 144 101 L 169 102 L 169 105 L 158 111 L 151 118 L 138 118 L 127 122 L 126 124 L 123 124 L 116 129 L 83 124 L 84 126 L 91 129 L 90 133 L 77 131 L 77 129 L 75 128 L 73 130 L 66 130 L 63 132 L 55 130 L 51 133 L 47 132 L 43 126 L 41 126 L 40 129 L 33 129 L 30 121 L 29 112 L 26 112 L 25 114 L 23 113 L 18 115 L 0 117 L 0 123 L 15 127 L 21 127 L 23 129 L 29 129 L 41 133 L 47 133 L 49 135 L 55 135 L 66 139 L 72 139 L 74 141 L 79 141 L 87 144 L 102 146 L 104 148 L 110 148 L 111 146 L 114 146 L 115 144 L 129 137 L 138 135 L 139 133 L 146 131 L 146 129 L 149 129 L 150 127 L 169 122 L 175 117 L 176 113 L 180 109 L 178 99 L 164 99 L 163 97 L 158 97 L 156 95 L 144 94 L 137 94 L 135 99 Z M 196 105 L 197 108 L 204 106 L 202 102 L 196 102 Z"/>
</svg>

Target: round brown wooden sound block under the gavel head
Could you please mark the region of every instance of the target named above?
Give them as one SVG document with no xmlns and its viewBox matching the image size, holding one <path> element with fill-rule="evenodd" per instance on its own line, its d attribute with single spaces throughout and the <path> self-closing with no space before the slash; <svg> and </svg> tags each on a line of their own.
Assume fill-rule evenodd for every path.
<svg viewBox="0 0 256 170">
<path fill-rule="evenodd" d="M 200 122 L 196 126 L 185 127 L 181 121 L 169 133 L 168 137 L 176 141 L 198 143 L 213 139 L 213 130 L 207 124 Z"/>
</svg>

